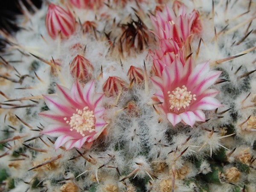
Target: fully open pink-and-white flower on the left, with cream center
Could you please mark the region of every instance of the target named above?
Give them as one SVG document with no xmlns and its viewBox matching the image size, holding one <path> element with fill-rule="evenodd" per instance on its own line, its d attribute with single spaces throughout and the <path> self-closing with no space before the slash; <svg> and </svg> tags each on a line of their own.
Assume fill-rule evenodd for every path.
<svg viewBox="0 0 256 192">
<path fill-rule="evenodd" d="M 58 137 L 55 149 L 65 144 L 67 150 L 90 145 L 100 134 L 106 133 L 107 123 L 103 119 L 103 94 L 95 93 L 95 81 L 84 87 L 76 81 L 71 90 L 57 84 L 58 96 L 44 96 L 50 111 L 39 113 L 49 123 L 41 134 Z"/>
</svg>

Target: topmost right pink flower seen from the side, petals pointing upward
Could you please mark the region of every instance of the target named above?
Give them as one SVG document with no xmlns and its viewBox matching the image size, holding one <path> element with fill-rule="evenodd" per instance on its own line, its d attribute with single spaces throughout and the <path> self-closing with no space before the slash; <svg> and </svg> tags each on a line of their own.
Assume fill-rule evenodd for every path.
<svg viewBox="0 0 256 192">
<path fill-rule="evenodd" d="M 189 38 L 192 38 L 193 32 L 201 32 L 198 12 L 194 10 L 187 15 L 184 5 L 180 7 L 177 16 L 172 9 L 165 6 L 163 12 L 157 11 L 155 17 L 151 16 L 151 20 L 156 30 L 155 35 L 159 39 L 172 38 L 179 47 L 185 45 L 187 40 L 191 40 Z M 200 30 L 194 29 L 195 27 Z"/>
</svg>

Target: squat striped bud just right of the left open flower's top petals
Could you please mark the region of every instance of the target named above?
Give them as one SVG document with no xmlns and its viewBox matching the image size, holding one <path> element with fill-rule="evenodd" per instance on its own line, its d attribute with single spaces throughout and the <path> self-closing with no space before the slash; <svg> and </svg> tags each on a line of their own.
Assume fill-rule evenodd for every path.
<svg viewBox="0 0 256 192">
<path fill-rule="evenodd" d="M 107 81 L 103 84 L 102 89 L 105 96 L 112 97 L 117 96 L 120 91 L 127 89 L 126 83 L 119 77 L 109 77 Z"/>
</svg>

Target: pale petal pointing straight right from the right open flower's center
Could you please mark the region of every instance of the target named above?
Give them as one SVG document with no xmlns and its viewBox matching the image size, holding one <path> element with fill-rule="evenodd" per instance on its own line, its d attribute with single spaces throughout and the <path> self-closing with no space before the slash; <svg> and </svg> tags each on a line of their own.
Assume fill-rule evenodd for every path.
<svg viewBox="0 0 256 192">
<path fill-rule="evenodd" d="M 204 97 L 199 102 L 192 105 L 191 108 L 194 110 L 213 110 L 222 107 L 221 103 L 212 97 Z"/>
</svg>

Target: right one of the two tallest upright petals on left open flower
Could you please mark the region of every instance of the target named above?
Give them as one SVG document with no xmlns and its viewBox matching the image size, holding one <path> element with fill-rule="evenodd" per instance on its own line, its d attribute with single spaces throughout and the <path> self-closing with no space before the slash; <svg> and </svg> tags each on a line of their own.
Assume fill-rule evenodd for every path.
<svg viewBox="0 0 256 192">
<path fill-rule="evenodd" d="M 89 105 L 88 107 L 93 109 L 93 96 L 95 93 L 95 80 L 89 81 L 84 86 L 84 101 Z"/>
</svg>

